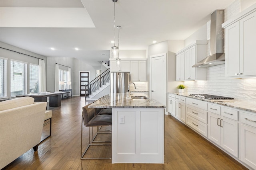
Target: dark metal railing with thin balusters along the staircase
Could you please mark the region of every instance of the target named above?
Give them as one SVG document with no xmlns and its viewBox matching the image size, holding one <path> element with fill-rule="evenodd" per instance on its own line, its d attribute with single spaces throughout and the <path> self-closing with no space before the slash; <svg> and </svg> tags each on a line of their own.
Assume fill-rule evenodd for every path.
<svg viewBox="0 0 256 170">
<path fill-rule="evenodd" d="M 110 68 L 100 74 L 98 77 L 94 78 L 89 84 L 87 84 L 88 95 L 92 94 L 99 88 L 101 88 L 106 82 L 110 80 Z"/>
</svg>

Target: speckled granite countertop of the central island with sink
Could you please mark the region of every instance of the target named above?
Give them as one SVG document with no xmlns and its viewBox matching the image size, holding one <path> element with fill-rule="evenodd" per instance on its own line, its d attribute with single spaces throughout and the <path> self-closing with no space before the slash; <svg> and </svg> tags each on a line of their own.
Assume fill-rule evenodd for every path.
<svg viewBox="0 0 256 170">
<path fill-rule="evenodd" d="M 144 93 L 130 94 L 130 96 L 148 96 Z M 164 104 L 154 100 L 154 99 L 145 99 L 145 100 L 134 100 L 126 99 L 126 94 L 116 93 L 108 94 L 103 96 L 99 100 L 93 102 L 90 106 L 92 108 L 165 108 Z"/>
</svg>

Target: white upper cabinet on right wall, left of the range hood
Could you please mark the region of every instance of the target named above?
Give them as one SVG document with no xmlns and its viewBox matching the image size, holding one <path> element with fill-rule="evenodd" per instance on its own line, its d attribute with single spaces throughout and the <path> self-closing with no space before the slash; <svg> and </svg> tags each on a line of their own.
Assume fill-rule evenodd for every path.
<svg viewBox="0 0 256 170">
<path fill-rule="evenodd" d="M 207 57 L 207 41 L 196 41 L 176 53 L 176 80 L 206 80 L 207 68 L 192 67 Z"/>
</svg>

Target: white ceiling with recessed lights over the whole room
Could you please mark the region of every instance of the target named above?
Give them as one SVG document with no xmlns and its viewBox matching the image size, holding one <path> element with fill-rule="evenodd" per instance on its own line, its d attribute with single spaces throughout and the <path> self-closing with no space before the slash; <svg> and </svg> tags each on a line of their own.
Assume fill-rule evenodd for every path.
<svg viewBox="0 0 256 170">
<path fill-rule="evenodd" d="M 147 49 L 152 41 L 184 40 L 206 24 L 214 10 L 224 9 L 232 2 L 234 0 L 118 0 L 116 26 L 122 26 L 120 50 Z M 56 11 L 57 8 L 85 8 L 84 14 L 79 14 L 83 16 L 78 19 L 74 17 L 78 14 L 70 14 L 72 21 L 83 22 L 82 27 L 69 26 L 67 17 L 61 16 L 54 19 L 56 25 L 52 27 L 45 26 L 51 20 L 49 17 L 41 22 L 41 26 L 33 26 L 30 22 L 26 27 L 28 18 L 22 24 L 15 21 L 15 17 L 22 17 L 23 13 L 12 12 L 14 18 L 1 13 L 1 21 L 7 17 L 13 25 L 1 23 L 0 41 L 46 57 L 75 57 L 93 66 L 98 65 L 97 61 L 109 59 L 109 49 L 113 46 L 110 41 L 114 40 L 112 0 L 0 0 L 0 6 L 7 11 L 30 7 L 46 13 L 52 11 L 49 8 L 56 8 Z M 95 27 L 86 26 L 85 21 L 90 19 L 87 12 Z M 37 15 L 31 14 L 30 19 L 39 20 Z M 66 25 L 60 26 L 61 21 Z M 55 50 L 52 51 L 51 47 Z M 78 51 L 74 49 L 76 47 Z"/>
</svg>

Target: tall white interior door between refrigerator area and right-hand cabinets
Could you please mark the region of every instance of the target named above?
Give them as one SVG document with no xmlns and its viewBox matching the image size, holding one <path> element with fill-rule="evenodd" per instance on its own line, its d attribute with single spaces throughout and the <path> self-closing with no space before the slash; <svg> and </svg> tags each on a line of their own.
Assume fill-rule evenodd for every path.
<svg viewBox="0 0 256 170">
<path fill-rule="evenodd" d="M 150 56 L 150 97 L 166 105 L 166 54 Z"/>
</svg>

